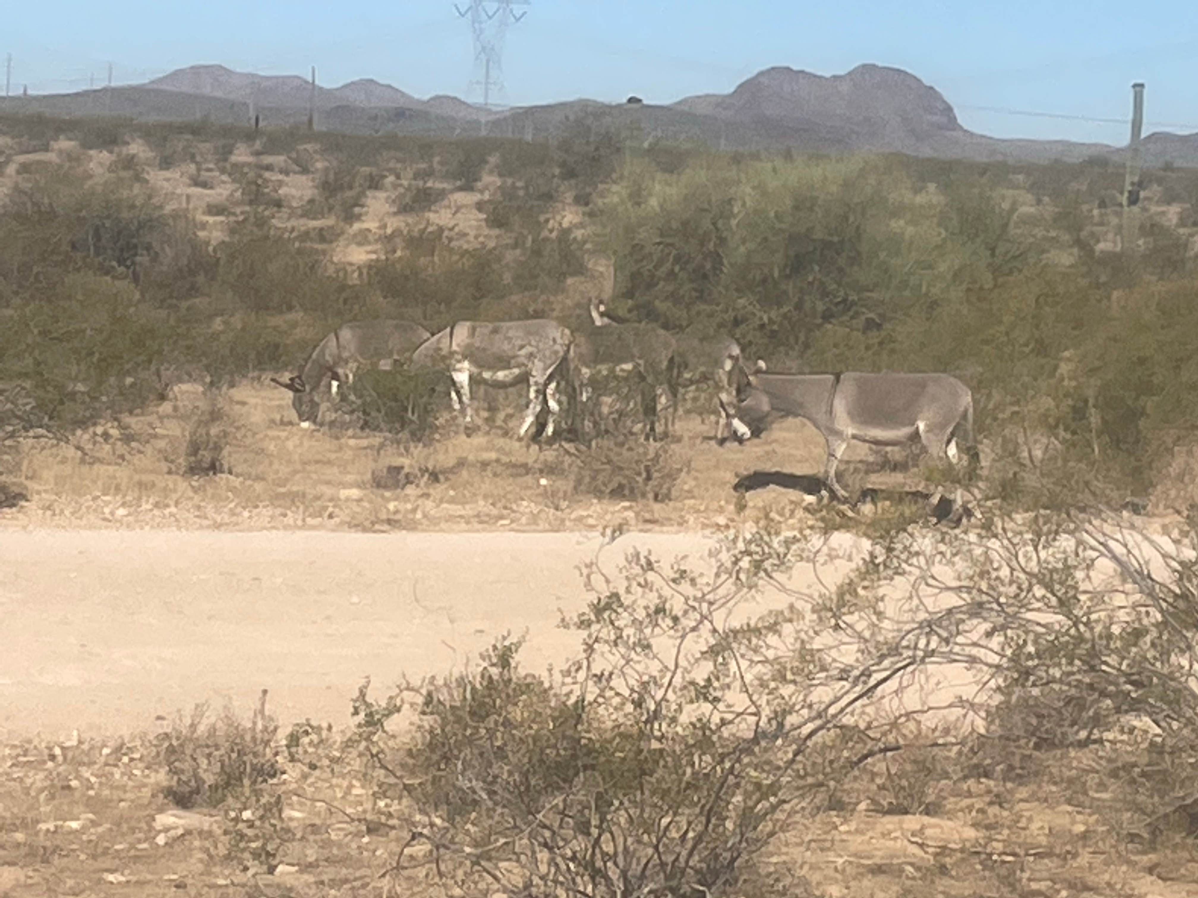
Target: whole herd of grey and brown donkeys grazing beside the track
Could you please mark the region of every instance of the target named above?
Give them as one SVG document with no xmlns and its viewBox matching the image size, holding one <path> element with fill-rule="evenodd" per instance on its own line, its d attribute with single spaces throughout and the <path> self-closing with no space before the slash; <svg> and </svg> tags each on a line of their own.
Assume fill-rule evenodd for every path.
<svg viewBox="0 0 1198 898">
<path fill-rule="evenodd" d="M 633 378 L 639 387 L 647 438 L 658 435 L 659 415 L 677 411 L 683 388 L 702 380 L 714 384 L 719 423 L 716 442 L 743 443 L 779 417 L 797 415 L 823 435 L 828 461 L 823 479 L 841 500 L 836 465 L 849 442 L 896 447 L 919 442 L 936 459 L 976 462 L 973 396 L 948 374 L 768 374 L 757 360 L 750 370 L 732 338 L 674 335 L 655 324 L 616 322 L 604 304 L 591 303 L 592 323 L 567 328 L 550 318 L 459 321 L 440 333 L 410 321 L 355 321 L 341 324 L 311 351 L 297 375 L 284 382 L 292 393 L 301 426 L 315 424 L 321 399 L 337 396 L 362 365 L 443 370 L 452 378 L 450 401 L 470 432 L 472 381 L 491 387 L 526 386 L 528 406 L 519 437 L 534 432 L 545 415 L 541 438 L 559 426 L 561 392 L 577 407 L 594 399 L 595 375 Z"/>
</svg>

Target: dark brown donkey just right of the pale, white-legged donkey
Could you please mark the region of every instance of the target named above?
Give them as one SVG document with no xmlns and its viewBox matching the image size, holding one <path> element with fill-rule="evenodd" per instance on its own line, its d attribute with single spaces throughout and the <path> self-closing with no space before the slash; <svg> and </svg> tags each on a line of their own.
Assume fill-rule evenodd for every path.
<svg viewBox="0 0 1198 898">
<path fill-rule="evenodd" d="M 591 382 L 595 375 L 634 377 L 645 419 L 645 438 L 657 439 L 662 402 L 670 409 L 678 405 L 678 353 L 674 338 L 657 324 L 617 323 L 604 311 L 603 303 L 592 301 L 591 320 L 594 326 L 574 332 L 570 370 L 576 387 L 577 409 L 587 412 L 592 408 Z M 582 426 L 579 436 L 586 438 Z"/>
</svg>

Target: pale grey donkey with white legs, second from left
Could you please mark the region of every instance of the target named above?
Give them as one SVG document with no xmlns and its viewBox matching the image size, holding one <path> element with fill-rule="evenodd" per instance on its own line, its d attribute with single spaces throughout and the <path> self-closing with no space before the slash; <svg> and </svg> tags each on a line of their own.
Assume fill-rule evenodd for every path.
<svg viewBox="0 0 1198 898">
<path fill-rule="evenodd" d="M 444 368 L 453 377 L 449 394 L 455 411 L 470 433 L 470 380 L 477 377 L 490 387 L 528 384 L 528 409 L 520 424 L 522 439 L 543 408 L 549 409 L 545 437 L 553 435 L 561 406 L 557 378 L 570 352 L 574 336 L 568 328 L 549 318 L 527 321 L 459 321 L 425 340 L 412 353 L 413 368 Z"/>
</svg>

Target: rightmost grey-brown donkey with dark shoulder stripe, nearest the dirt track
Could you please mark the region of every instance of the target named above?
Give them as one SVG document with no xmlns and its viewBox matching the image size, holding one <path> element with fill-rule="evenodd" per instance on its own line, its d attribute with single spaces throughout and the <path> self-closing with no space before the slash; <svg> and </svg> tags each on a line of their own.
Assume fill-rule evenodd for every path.
<svg viewBox="0 0 1198 898">
<path fill-rule="evenodd" d="M 973 394 L 951 375 L 763 374 L 762 362 L 756 371 L 740 390 L 737 418 L 745 414 L 763 423 L 764 415 L 773 412 L 810 421 L 828 445 L 824 479 L 842 500 L 848 496 L 836 483 L 836 463 L 852 439 L 872 445 L 919 441 L 933 457 L 948 456 L 954 465 L 960 457 L 960 441 L 970 462 L 978 461 Z"/>
</svg>

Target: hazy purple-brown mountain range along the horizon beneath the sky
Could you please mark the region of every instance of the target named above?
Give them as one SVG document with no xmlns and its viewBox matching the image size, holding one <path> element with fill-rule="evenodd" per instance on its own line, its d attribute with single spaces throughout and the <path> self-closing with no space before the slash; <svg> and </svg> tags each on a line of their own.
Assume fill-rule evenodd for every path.
<svg viewBox="0 0 1198 898">
<path fill-rule="evenodd" d="M 1010 140 L 970 132 L 931 85 L 900 68 L 860 65 L 837 75 L 786 66 L 763 69 L 731 93 L 684 97 L 657 105 L 576 99 L 485 110 L 452 96 L 419 99 L 389 84 L 358 79 L 340 87 L 300 75 L 260 75 L 224 66 L 181 68 L 144 85 L 75 93 L 0 98 L 0 113 L 122 116 L 140 121 L 207 119 L 244 125 L 254 110 L 265 126 L 302 125 L 309 104 L 316 127 L 356 134 L 488 134 L 544 139 L 567 119 L 599 127 L 639 125 L 646 141 L 683 141 L 726 150 L 900 152 L 936 158 L 1047 162 L 1109 157 L 1125 147 L 1067 140 Z M 1198 166 L 1198 134 L 1149 134 L 1145 165 Z"/>
</svg>

